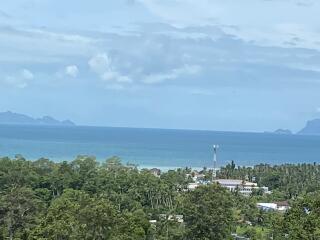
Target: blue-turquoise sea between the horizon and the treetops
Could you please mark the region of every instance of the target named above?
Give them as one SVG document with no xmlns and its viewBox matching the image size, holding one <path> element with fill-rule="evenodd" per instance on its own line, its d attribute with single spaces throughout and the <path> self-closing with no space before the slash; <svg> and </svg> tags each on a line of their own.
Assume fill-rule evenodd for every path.
<svg viewBox="0 0 320 240">
<path fill-rule="evenodd" d="M 219 144 L 218 166 L 258 163 L 320 162 L 320 137 L 190 130 L 108 127 L 0 125 L 0 156 L 22 154 L 72 160 L 94 155 L 103 161 L 119 156 L 140 166 L 212 166 L 212 145 Z"/>
</svg>

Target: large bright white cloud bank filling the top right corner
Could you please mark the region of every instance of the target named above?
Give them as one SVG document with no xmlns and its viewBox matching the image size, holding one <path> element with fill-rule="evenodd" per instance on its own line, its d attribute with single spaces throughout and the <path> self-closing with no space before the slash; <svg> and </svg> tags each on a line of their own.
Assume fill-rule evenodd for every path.
<svg viewBox="0 0 320 240">
<path fill-rule="evenodd" d="M 228 34 L 263 46 L 287 47 L 286 43 L 294 36 L 303 39 L 296 43 L 297 47 L 320 49 L 315 43 L 315 39 L 320 37 L 319 24 L 314 21 L 314 16 L 317 16 L 320 10 L 320 1 L 139 0 L 139 2 L 162 21 L 171 25 L 219 25 Z M 248 9 L 251 10 L 250 14 Z"/>
</svg>

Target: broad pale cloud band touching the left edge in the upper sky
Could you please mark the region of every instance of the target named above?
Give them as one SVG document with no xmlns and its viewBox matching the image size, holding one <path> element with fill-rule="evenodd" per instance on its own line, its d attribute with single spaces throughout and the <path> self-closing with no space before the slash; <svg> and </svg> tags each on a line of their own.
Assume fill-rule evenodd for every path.
<svg viewBox="0 0 320 240">
<path fill-rule="evenodd" d="M 64 58 L 88 57 L 97 51 L 98 38 L 64 32 L 44 32 L 42 28 L 26 29 L 0 26 L 0 61 L 28 64 L 61 62 Z M 64 62 L 64 64 L 66 64 Z"/>
</svg>

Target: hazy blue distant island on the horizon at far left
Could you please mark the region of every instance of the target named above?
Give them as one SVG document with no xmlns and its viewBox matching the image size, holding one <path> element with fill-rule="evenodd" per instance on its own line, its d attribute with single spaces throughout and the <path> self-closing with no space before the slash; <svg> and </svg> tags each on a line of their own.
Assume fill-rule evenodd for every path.
<svg viewBox="0 0 320 240">
<path fill-rule="evenodd" d="M 59 121 L 50 116 L 33 118 L 14 112 L 0 112 L 0 124 L 10 125 L 46 125 L 46 126 L 75 126 L 70 120 Z"/>
</svg>

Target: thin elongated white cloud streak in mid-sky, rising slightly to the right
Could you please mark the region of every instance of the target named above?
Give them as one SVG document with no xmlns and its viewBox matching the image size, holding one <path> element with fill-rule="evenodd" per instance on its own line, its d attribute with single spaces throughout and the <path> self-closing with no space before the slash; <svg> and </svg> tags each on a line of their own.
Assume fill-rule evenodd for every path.
<svg viewBox="0 0 320 240">
<path fill-rule="evenodd" d="M 167 80 L 177 79 L 181 76 L 194 75 L 201 71 L 201 67 L 198 65 L 184 65 L 180 68 L 175 68 L 167 73 L 157 73 L 145 76 L 142 80 L 146 84 L 156 84 Z"/>
</svg>

